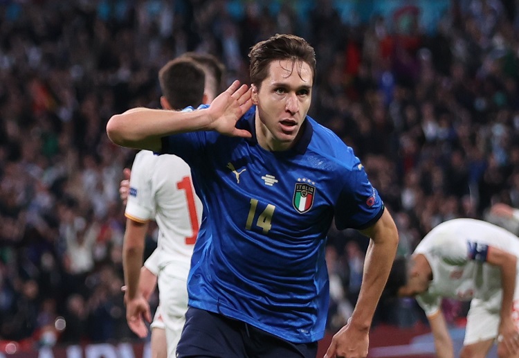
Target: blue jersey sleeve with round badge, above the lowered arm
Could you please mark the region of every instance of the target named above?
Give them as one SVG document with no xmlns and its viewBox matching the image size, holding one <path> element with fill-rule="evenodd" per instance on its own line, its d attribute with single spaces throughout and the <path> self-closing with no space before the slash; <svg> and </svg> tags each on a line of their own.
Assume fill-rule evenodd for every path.
<svg viewBox="0 0 519 358">
<path fill-rule="evenodd" d="M 343 174 L 343 187 L 336 203 L 337 229 L 366 229 L 382 216 L 384 204 L 377 190 L 367 179 L 360 161 Z"/>
</svg>

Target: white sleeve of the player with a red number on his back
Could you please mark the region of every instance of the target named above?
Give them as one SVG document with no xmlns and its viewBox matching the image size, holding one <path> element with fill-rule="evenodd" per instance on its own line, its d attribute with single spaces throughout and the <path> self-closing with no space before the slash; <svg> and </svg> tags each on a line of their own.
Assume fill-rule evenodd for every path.
<svg viewBox="0 0 519 358">
<path fill-rule="evenodd" d="M 146 155 L 149 154 L 149 155 Z M 136 222 L 152 220 L 154 213 L 154 195 L 149 172 L 154 165 L 151 152 L 139 152 L 131 166 L 129 195 L 125 216 Z"/>
</svg>

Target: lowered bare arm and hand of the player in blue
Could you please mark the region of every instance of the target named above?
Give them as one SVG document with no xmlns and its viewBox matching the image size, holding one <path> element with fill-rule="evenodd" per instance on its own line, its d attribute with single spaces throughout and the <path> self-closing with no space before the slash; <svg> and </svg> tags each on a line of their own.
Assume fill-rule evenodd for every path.
<svg viewBox="0 0 519 358">
<path fill-rule="evenodd" d="M 397 226 L 387 208 L 373 226 L 361 233 L 371 239 L 365 257 L 361 291 L 348 324 L 331 340 L 325 355 L 327 358 L 367 356 L 373 315 L 397 253 Z"/>
</svg>

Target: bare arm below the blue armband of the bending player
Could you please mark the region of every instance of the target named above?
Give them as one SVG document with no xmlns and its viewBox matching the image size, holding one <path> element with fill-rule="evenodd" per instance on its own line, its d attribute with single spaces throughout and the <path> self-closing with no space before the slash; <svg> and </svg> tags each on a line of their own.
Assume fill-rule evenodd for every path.
<svg viewBox="0 0 519 358">
<path fill-rule="evenodd" d="M 516 290 L 517 258 L 507 251 L 497 247 L 488 247 L 486 262 L 500 268 L 502 285 L 501 320 L 499 334 L 502 347 L 509 354 L 519 351 L 519 335 L 512 320 L 513 294 Z"/>
</svg>

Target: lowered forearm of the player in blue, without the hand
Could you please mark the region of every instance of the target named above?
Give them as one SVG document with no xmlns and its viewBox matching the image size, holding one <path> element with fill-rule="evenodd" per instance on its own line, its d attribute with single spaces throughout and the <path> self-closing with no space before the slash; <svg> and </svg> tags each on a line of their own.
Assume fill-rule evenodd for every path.
<svg viewBox="0 0 519 358">
<path fill-rule="evenodd" d="M 363 283 L 358 295 L 358 301 L 352 314 L 351 324 L 359 329 L 369 329 L 372 323 L 376 305 L 390 273 L 397 253 L 397 227 L 388 213 L 382 215 L 375 226 L 363 233 L 370 236 L 370 246 L 367 249 Z"/>
</svg>

